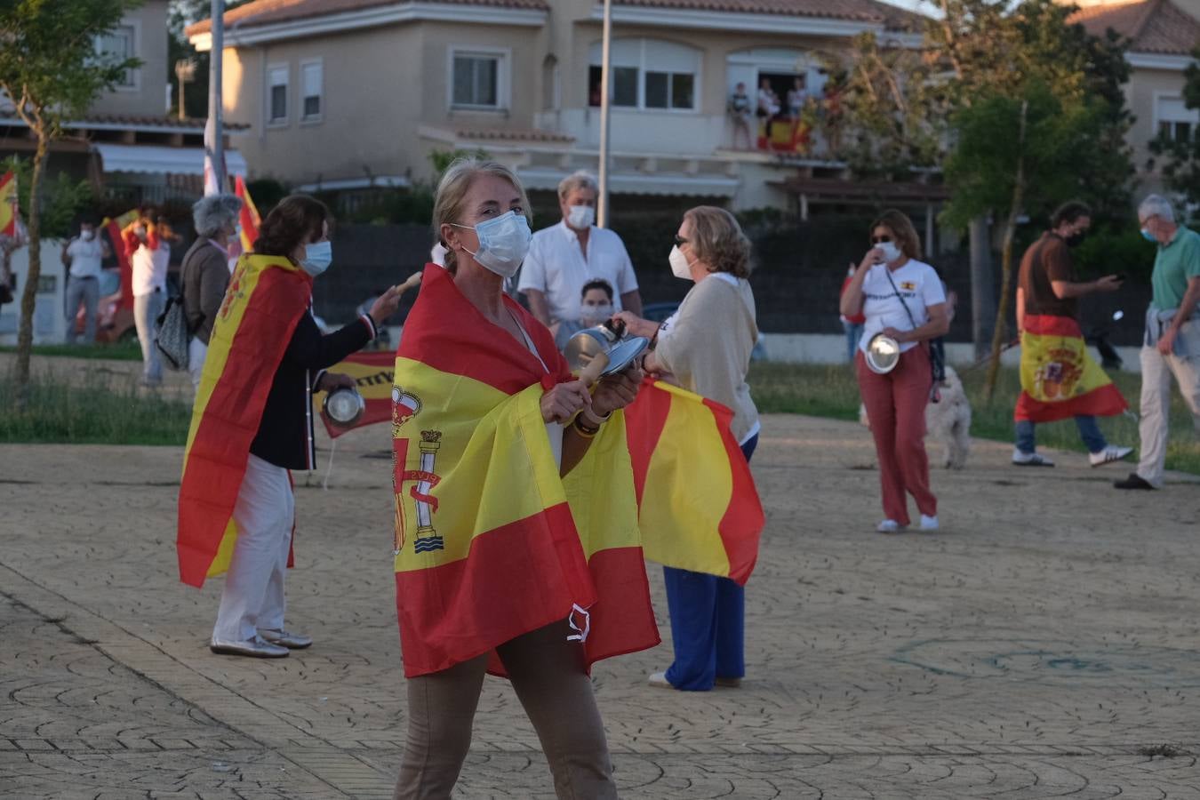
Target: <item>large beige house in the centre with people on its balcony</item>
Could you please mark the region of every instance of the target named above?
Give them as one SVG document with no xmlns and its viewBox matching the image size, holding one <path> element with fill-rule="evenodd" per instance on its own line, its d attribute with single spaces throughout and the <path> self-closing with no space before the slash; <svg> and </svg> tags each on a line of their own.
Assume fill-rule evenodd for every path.
<svg viewBox="0 0 1200 800">
<path fill-rule="evenodd" d="M 821 143 L 734 150 L 736 85 L 782 101 L 800 78 L 820 100 L 822 54 L 863 31 L 916 43 L 918 19 L 876 0 L 616 0 L 612 17 L 614 196 L 800 210 L 845 166 Z M 251 128 L 252 175 L 310 190 L 404 185 L 434 150 L 482 149 L 548 191 L 599 163 L 601 20 L 595 0 L 258 0 L 224 17 L 226 115 Z M 211 46 L 208 20 L 187 34 Z"/>
</svg>

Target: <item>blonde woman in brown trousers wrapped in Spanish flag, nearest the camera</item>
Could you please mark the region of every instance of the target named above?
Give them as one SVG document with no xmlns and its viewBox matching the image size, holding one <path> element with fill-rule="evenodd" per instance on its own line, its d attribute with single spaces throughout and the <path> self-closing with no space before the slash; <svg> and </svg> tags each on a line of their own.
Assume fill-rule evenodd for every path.
<svg viewBox="0 0 1200 800">
<path fill-rule="evenodd" d="M 659 642 L 618 411 L 642 374 L 589 391 L 504 294 L 529 247 L 527 215 L 508 168 L 446 170 L 433 209 L 445 267 L 426 266 L 397 351 L 401 799 L 450 796 L 485 673 L 511 680 L 559 798 L 616 798 L 588 668 Z"/>
</svg>

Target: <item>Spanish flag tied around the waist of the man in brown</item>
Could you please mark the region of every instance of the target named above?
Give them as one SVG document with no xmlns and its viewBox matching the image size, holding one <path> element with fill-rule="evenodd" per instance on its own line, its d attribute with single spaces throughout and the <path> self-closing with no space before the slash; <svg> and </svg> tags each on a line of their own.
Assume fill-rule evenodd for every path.
<svg viewBox="0 0 1200 800">
<path fill-rule="evenodd" d="M 1079 323 L 1070 317 L 1025 315 L 1021 396 L 1013 413 L 1018 422 L 1116 416 L 1127 408 L 1121 391 L 1087 354 Z"/>
</svg>

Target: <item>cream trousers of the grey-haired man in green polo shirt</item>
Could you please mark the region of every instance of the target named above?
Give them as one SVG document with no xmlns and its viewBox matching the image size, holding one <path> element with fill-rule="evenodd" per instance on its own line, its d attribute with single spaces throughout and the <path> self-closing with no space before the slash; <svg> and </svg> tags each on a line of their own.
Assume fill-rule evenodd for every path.
<svg viewBox="0 0 1200 800">
<path fill-rule="evenodd" d="M 1195 325 L 1196 323 L 1188 323 Z M 1163 487 L 1163 465 L 1166 462 L 1166 420 L 1171 407 L 1171 375 L 1180 385 L 1183 402 L 1192 411 L 1192 425 L 1200 434 L 1200 353 L 1193 342 L 1188 356 L 1163 355 L 1152 347 L 1141 348 L 1141 459 L 1138 475 L 1153 486 Z"/>
</svg>

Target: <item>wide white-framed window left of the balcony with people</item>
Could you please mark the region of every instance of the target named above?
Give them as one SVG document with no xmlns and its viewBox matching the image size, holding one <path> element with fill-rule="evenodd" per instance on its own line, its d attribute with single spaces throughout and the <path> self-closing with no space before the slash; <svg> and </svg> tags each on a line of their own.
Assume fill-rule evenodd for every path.
<svg viewBox="0 0 1200 800">
<path fill-rule="evenodd" d="M 616 108 L 695 112 L 700 108 L 700 50 L 654 38 L 618 38 L 610 54 Z M 600 44 L 592 46 L 588 104 L 601 96 Z"/>
</svg>

